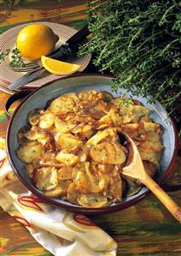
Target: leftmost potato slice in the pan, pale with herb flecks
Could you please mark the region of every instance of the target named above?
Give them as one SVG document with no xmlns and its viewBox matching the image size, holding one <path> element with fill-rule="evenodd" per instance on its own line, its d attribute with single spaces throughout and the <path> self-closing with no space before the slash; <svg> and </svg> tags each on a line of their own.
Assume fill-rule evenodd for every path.
<svg viewBox="0 0 181 256">
<path fill-rule="evenodd" d="M 38 158 L 42 154 L 42 146 L 38 143 L 33 145 L 27 144 L 26 146 L 20 146 L 17 150 L 17 156 L 22 162 L 31 163 L 35 158 Z"/>
</svg>

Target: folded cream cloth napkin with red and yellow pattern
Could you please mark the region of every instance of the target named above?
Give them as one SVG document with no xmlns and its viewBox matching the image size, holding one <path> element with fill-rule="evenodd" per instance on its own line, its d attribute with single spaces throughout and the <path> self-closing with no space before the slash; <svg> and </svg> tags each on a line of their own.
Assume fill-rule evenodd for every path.
<svg viewBox="0 0 181 256">
<path fill-rule="evenodd" d="M 44 204 L 20 183 L 0 138 L 0 205 L 45 249 L 59 256 L 114 256 L 116 242 L 90 219 Z"/>
</svg>

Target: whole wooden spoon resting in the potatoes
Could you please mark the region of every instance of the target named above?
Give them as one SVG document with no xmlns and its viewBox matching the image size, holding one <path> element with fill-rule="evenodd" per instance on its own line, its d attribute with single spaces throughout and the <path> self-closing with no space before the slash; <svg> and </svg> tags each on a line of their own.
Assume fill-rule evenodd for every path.
<svg viewBox="0 0 181 256">
<path fill-rule="evenodd" d="M 122 133 L 122 132 L 121 132 Z M 122 174 L 137 179 L 142 182 L 152 193 L 166 206 L 167 210 L 178 219 L 181 223 L 181 208 L 162 190 L 161 187 L 147 174 L 144 169 L 142 159 L 137 150 L 137 146 L 131 138 L 125 134 L 126 140 L 128 141 L 130 149 L 130 158 L 128 158 L 127 165 L 123 168 Z"/>
</svg>

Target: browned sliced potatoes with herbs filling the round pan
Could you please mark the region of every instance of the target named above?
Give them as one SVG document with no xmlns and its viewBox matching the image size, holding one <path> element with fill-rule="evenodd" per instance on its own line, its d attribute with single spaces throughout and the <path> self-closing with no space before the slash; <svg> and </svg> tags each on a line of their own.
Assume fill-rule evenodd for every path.
<svg viewBox="0 0 181 256">
<path fill-rule="evenodd" d="M 150 176 L 159 168 L 161 125 L 137 100 L 95 90 L 67 93 L 32 110 L 28 122 L 18 133 L 17 155 L 48 197 L 102 207 L 137 193 L 140 184 L 121 175 L 129 154 L 121 131 L 136 142 Z"/>
</svg>

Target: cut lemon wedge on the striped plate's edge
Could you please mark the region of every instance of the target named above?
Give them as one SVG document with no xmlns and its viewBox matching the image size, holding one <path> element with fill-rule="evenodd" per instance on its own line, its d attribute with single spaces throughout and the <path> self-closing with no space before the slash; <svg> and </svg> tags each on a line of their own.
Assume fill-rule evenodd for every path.
<svg viewBox="0 0 181 256">
<path fill-rule="evenodd" d="M 41 57 L 41 62 L 46 70 L 52 74 L 58 75 L 73 74 L 81 67 L 81 65 L 78 64 L 64 63 L 45 56 Z"/>
</svg>

